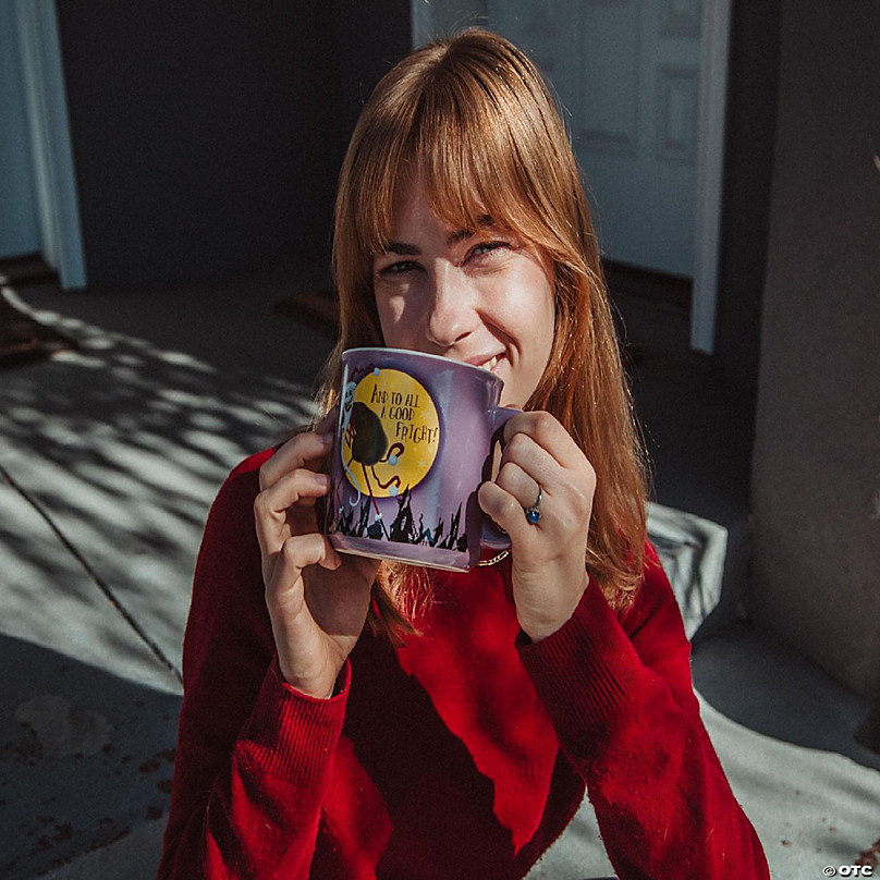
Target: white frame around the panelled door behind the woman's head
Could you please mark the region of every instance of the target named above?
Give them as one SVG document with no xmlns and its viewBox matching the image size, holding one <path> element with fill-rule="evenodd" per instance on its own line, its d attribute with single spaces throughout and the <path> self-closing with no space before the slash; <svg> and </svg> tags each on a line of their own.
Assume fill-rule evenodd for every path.
<svg viewBox="0 0 880 880">
<path fill-rule="evenodd" d="M 470 5 L 485 21 L 485 3 Z M 435 36 L 435 12 L 436 3 L 410 0 L 414 48 Z M 731 0 L 702 0 L 690 347 L 704 354 L 716 344 L 730 22 Z"/>
</svg>

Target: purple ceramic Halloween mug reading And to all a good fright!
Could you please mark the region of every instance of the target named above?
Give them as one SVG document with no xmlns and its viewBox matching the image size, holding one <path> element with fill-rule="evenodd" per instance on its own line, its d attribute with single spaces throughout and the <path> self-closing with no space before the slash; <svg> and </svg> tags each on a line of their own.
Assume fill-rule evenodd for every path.
<svg viewBox="0 0 880 880">
<path fill-rule="evenodd" d="M 342 354 L 325 530 L 337 550 L 467 571 L 510 540 L 477 489 L 518 410 L 482 367 L 400 349 Z"/>
</svg>

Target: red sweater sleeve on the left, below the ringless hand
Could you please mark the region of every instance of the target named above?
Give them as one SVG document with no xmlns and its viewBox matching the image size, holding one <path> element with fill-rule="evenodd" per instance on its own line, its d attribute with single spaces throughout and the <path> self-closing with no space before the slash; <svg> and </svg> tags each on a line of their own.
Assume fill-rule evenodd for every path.
<svg viewBox="0 0 880 880">
<path fill-rule="evenodd" d="M 305 878 L 315 850 L 350 668 L 329 700 L 281 676 L 253 522 L 260 463 L 230 475 L 199 551 L 160 880 Z"/>
</svg>

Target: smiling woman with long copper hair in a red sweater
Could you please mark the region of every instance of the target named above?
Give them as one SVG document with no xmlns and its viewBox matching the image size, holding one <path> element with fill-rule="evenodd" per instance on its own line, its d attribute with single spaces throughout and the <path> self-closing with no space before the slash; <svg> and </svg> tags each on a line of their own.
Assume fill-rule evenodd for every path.
<svg viewBox="0 0 880 880">
<path fill-rule="evenodd" d="M 199 553 L 160 876 L 523 877 L 586 786 L 624 880 L 768 877 L 646 542 L 576 163 L 515 47 L 464 32 L 377 86 L 334 271 L 325 412 L 358 345 L 492 369 L 523 407 L 478 492 L 512 549 L 467 574 L 338 554 L 330 417 L 240 465 Z"/>
</svg>

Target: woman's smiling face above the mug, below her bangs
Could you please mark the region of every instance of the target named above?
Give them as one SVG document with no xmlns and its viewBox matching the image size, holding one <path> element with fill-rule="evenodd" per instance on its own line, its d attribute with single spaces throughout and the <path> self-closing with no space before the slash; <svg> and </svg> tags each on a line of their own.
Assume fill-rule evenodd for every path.
<svg viewBox="0 0 880 880">
<path fill-rule="evenodd" d="M 386 345 L 491 369 L 501 403 L 525 405 L 553 345 L 552 266 L 538 247 L 488 217 L 476 230 L 443 225 L 412 183 L 372 283 Z"/>
</svg>

